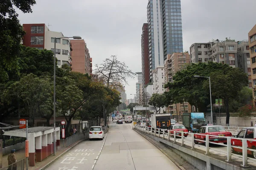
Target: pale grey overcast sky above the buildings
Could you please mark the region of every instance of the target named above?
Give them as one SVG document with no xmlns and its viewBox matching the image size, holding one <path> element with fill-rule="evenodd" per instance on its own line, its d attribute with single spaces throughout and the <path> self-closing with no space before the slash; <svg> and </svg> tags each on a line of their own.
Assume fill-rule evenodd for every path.
<svg viewBox="0 0 256 170">
<path fill-rule="evenodd" d="M 20 11 L 20 23 L 45 23 L 50 31 L 81 36 L 93 66 L 111 55 L 134 72 L 141 71 L 141 34 L 148 0 L 36 0 L 32 14 Z M 256 24 L 256 0 L 181 0 L 183 51 L 212 39 L 248 40 Z M 136 93 L 137 77 L 125 85 L 127 99 Z"/>
</svg>

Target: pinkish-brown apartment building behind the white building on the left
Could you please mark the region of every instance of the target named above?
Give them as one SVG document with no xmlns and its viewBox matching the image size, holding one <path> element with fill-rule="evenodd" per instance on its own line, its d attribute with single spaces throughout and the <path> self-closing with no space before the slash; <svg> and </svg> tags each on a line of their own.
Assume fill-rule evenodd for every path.
<svg viewBox="0 0 256 170">
<path fill-rule="evenodd" d="M 72 51 L 72 71 L 82 74 L 92 73 L 92 58 L 84 40 L 70 40 Z"/>
</svg>

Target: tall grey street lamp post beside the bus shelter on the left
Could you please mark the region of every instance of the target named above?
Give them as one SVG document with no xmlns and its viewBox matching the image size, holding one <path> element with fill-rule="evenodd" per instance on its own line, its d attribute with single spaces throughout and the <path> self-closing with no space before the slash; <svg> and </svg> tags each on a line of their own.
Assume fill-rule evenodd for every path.
<svg viewBox="0 0 256 170">
<path fill-rule="evenodd" d="M 80 36 L 54 38 L 54 69 L 53 69 L 53 155 L 56 155 L 56 42 L 57 39 L 73 38 L 81 39 Z"/>
</svg>

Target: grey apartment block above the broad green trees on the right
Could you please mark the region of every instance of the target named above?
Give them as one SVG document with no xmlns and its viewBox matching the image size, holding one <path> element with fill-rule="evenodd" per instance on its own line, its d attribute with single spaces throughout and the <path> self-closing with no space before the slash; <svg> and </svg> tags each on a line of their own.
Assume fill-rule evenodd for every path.
<svg viewBox="0 0 256 170">
<path fill-rule="evenodd" d="M 192 63 L 212 61 L 241 68 L 248 74 L 249 87 L 252 87 L 249 43 L 247 40 L 236 42 L 235 40 L 226 39 L 224 41 L 214 40 L 207 43 L 194 43 L 189 49 Z"/>
</svg>

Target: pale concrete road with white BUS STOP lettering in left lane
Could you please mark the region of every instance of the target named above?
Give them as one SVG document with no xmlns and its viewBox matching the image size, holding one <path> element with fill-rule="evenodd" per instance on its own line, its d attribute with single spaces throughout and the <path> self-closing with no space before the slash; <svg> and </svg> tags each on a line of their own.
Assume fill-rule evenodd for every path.
<svg viewBox="0 0 256 170">
<path fill-rule="evenodd" d="M 104 140 L 85 140 L 47 170 L 180 170 L 131 124 L 111 123 Z"/>
</svg>

